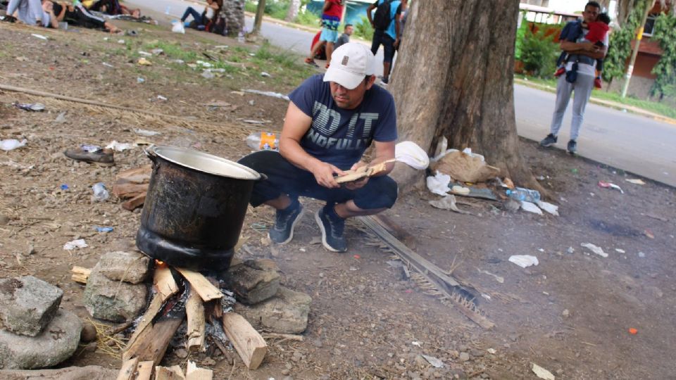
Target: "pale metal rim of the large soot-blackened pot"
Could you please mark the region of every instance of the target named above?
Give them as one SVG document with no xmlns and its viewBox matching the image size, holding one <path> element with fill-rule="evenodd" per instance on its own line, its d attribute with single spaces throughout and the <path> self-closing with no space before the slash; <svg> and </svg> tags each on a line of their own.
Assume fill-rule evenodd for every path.
<svg viewBox="0 0 676 380">
<path fill-rule="evenodd" d="M 245 179 L 245 180 L 254 180 L 257 181 L 261 179 L 261 173 L 256 172 L 256 170 L 246 167 L 242 164 L 235 163 L 234 161 L 227 160 L 222 157 L 214 156 L 213 154 L 204 153 L 201 151 L 195 151 L 193 149 L 179 148 L 177 146 L 151 146 L 149 148 L 150 153 L 154 153 L 156 156 L 168 160 L 170 163 L 175 163 L 176 165 L 187 167 L 198 172 L 204 172 L 211 175 L 217 175 L 219 177 L 234 178 L 234 179 Z M 230 168 L 232 171 L 228 172 L 225 167 L 216 167 L 215 170 L 213 167 L 196 167 L 196 165 L 191 163 L 181 162 L 179 158 L 171 158 L 172 154 L 181 154 L 194 156 L 196 159 L 210 160 L 215 163 L 220 163 L 225 165 L 225 167 Z"/>
</svg>

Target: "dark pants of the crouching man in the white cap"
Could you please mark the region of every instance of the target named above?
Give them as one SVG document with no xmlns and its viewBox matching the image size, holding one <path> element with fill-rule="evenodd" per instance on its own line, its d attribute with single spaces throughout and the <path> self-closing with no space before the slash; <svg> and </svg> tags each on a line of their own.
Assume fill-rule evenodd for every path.
<svg viewBox="0 0 676 380">
<path fill-rule="evenodd" d="M 292 165 L 275 151 L 251 153 L 239 160 L 239 163 L 268 176 L 268 179 L 253 186 L 253 207 L 277 199 L 282 194 L 287 194 L 292 199 L 307 196 L 326 201 L 327 204 L 353 200 L 362 210 L 391 208 L 396 201 L 396 182 L 387 176 L 371 177 L 365 186 L 357 190 L 342 187 L 328 189 L 320 186 L 311 172 Z"/>
</svg>

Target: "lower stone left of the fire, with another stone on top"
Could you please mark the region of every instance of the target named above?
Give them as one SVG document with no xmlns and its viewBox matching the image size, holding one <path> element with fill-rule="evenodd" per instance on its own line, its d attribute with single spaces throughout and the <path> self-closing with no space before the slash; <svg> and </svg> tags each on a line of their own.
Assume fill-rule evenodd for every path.
<svg viewBox="0 0 676 380">
<path fill-rule="evenodd" d="M 92 317 L 111 322 L 136 318 L 146 306 L 146 285 L 113 281 L 101 274 L 100 267 L 101 263 L 96 264 L 87 279 L 84 308 Z"/>
</svg>

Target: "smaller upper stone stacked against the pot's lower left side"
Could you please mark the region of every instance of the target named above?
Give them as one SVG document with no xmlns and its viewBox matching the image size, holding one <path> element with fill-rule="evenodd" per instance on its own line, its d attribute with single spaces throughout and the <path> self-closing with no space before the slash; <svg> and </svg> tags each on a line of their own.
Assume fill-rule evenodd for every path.
<svg viewBox="0 0 676 380">
<path fill-rule="evenodd" d="M 150 258 L 139 252 L 108 252 L 101 256 L 99 267 L 108 279 L 139 284 L 148 278 Z"/>
</svg>

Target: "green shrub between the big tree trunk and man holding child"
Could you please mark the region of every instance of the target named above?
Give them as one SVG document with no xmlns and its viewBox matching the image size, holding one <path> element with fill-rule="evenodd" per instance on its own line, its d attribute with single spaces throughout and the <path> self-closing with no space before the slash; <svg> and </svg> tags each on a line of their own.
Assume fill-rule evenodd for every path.
<svg viewBox="0 0 676 380">
<path fill-rule="evenodd" d="M 558 45 L 553 43 L 553 35 L 546 36 L 544 30 L 533 34 L 527 30 L 521 44 L 523 68 L 536 77 L 551 75 L 556 70 Z"/>
</svg>

